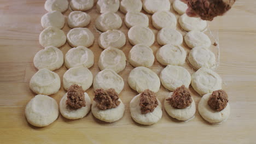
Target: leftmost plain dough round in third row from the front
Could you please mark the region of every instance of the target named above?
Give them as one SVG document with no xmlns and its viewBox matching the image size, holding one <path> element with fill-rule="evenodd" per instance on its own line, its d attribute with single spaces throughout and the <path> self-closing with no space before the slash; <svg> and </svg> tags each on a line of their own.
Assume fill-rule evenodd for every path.
<svg viewBox="0 0 256 144">
<path fill-rule="evenodd" d="M 62 51 L 57 47 L 48 46 L 37 52 L 33 62 L 37 69 L 45 68 L 54 71 L 62 66 L 64 57 Z"/>
</svg>

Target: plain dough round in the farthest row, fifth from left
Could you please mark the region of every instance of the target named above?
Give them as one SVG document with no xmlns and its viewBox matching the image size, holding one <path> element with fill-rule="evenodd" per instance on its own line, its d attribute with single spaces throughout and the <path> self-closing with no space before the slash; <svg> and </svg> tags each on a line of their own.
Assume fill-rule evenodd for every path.
<svg viewBox="0 0 256 144">
<path fill-rule="evenodd" d="M 169 0 L 144 0 L 143 9 L 149 14 L 154 14 L 160 10 L 170 10 L 171 3 Z"/>
</svg>

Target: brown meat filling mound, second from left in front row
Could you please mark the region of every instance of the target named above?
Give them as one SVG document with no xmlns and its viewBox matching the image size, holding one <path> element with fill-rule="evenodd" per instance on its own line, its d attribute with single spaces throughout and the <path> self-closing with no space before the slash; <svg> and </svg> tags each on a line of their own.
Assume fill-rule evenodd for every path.
<svg viewBox="0 0 256 144">
<path fill-rule="evenodd" d="M 118 93 L 113 88 L 107 90 L 96 89 L 94 101 L 96 101 L 98 109 L 101 110 L 112 109 L 120 104 Z"/>
</svg>

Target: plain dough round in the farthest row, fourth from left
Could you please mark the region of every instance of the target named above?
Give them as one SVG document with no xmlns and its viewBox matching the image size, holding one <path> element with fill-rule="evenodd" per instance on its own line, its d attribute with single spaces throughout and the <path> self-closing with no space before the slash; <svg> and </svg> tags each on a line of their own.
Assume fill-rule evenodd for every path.
<svg viewBox="0 0 256 144">
<path fill-rule="evenodd" d="M 142 9 L 141 0 L 122 0 L 120 3 L 120 11 L 124 14 L 128 12 L 139 13 Z"/>
</svg>

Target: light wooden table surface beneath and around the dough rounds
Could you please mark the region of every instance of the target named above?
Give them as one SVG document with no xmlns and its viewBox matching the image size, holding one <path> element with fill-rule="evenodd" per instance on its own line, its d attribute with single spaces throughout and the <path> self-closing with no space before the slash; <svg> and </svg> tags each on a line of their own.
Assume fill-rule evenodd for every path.
<svg viewBox="0 0 256 144">
<path fill-rule="evenodd" d="M 61 115 L 48 127 L 36 128 L 28 124 L 24 115 L 25 106 L 35 93 L 29 82 L 37 69 L 33 65 L 34 55 L 41 49 L 38 37 L 43 30 L 40 17 L 46 13 L 43 0 L 0 1 L 0 143 L 256 143 L 256 2 L 237 0 L 234 7 L 222 17 L 209 22 L 210 29 L 218 32 L 220 65 L 216 69 L 223 79 L 223 89 L 229 95 L 231 114 L 228 121 L 220 125 L 205 122 L 198 111 L 187 123 L 178 122 L 163 110 L 161 120 L 150 126 L 132 121 L 130 100 L 137 95 L 127 84 L 127 75 L 132 67 L 128 63 L 120 73 L 125 88 L 120 98 L 125 104 L 125 114 L 120 121 L 104 123 L 90 112 L 86 117 L 71 121 Z M 95 8 L 95 7 L 94 7 Z M 70 10 L 64 14 L 67 15 Z M 94 28 L 96 10 L 89 10 L 92 17 L 89 25 L 95 34 L 95 43 L 90 49 L 95 55 L 95 64 L 90 70 L 95 76 L 99 71 L 98 47 L 100 33 Z M 124 14 L 118 12 L 121 17 Z M 150 26 L 153 28 L 152 26 Z M 69 31 L 67 24 L 63 29 Z M 121 28 L 127 37 L 127 28 Z M 156 31 L 156 30 L 154 30 Z M 127 42 L 122 49 L 126 56 L 131 49 Z M 154 44 L 154 54 L 159 45 Z M 71 47 L 66 43 L 60 47 L 65 54 Z M 158 75 L 164 68 L 155 61 L 153 69 Z M 55 70 L 61 79 L 67 69 Z M 190 70 L 190 73 L 194 73 Z M 200 96 L 190 87 L 196 106 Z M 86 91 L 91 99 L 93 88 Z M 161 86 L 157 93 L 164 100 L 168 92 Z M 65 94 L 63 87 L 51 95 L 59 103 Z"/>
</svg>

